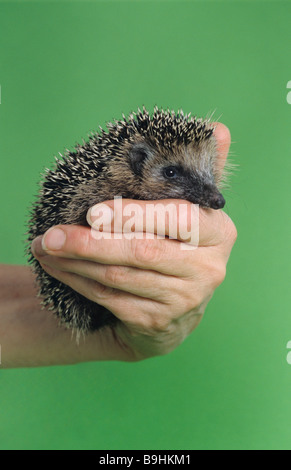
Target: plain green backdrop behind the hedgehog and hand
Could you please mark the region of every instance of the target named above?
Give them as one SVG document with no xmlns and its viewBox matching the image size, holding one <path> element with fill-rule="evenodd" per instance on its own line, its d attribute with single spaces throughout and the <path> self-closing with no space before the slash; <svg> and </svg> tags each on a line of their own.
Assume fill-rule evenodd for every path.
<svg viewBox="0 0 291 470">
<path fill-rule="evenodd" d="M 138 106 L 214 111 L 239 164 L 201 326 L 137 364 L 0 369 L 1 449 L 291 448 L 290 18 L 290 1 L 1 2 L 1 263 L 26 263 L 53 156 Z"/>
</svg>

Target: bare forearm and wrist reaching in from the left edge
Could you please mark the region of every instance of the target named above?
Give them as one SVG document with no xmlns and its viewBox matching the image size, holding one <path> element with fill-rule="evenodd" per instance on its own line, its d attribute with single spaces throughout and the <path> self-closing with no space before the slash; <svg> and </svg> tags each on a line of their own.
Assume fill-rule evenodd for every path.
<svg viewBox="0 0 291 470">
<path fill-rule="evenodd" d="M 132 360 L 110 329 L 77 343 L 70 330 L 42 309 L 34 275 L 26 266 L 0 265 L 0 345 L 0 369 Z"/>
</svg>

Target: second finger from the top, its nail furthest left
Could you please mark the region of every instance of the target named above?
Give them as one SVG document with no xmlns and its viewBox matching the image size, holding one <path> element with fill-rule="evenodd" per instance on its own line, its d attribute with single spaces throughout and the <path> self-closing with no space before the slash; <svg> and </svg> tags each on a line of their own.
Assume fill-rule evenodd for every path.
<svg viewBox="0 0 291 470">
<path fill-rule="evenodd" d="M 60 235 L 61 231 L 64 232 L 64 236 Z M 62 247 L 59 244 L 59 238 L 62 238 Z M 46 256 L 52 255 L 105 265 L 132 266 L 169 275 L 182 272 L 181 275 L 183 275 L 183 266 L 188 255 L 186 256 L 179 249 L 179 243 L 176 240 L 125 240 L 123 238 L 96 240 L 87 227 L 63 225 L 53 227 L 44 237 L 36 238 L 32 244 L 32 252 L 38 260 L 44 263 Z M 175 260 L 175 266 L 169 262 L 169 259 Z M 179 262 L 180 259 L 182 263 Z M 189 270 L 191 271 L 190 267 Z"/>
</svg>

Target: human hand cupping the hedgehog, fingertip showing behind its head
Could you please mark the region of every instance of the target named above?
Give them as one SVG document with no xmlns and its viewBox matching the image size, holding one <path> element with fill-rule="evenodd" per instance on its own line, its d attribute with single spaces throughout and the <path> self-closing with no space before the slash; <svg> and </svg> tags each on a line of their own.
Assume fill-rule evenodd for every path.
<svg viewBox="0 0 291 470">
<path fill-rule="evenodd" d="M 222 124 L 215 135 L 222 169 L 230 135 Z M 123 200 L 123 207 L 132 202 L 145 214 L 149 202 Z M 177 209 L 181 203 L 191 206 L 186 201 L 170 202 Z M 169 201 L 159 203 L 167 205 Z M 113 208 L 113 201 L 106 205 Z M 180 233 L 187 229 L 188 221 L 184 223 L 185 227 L 179 226 Z M 49 230 L 42 243 L 40 238 L 35 240 L 33 250 L 48 274 L 119 318 L 113 338 L 123 352 L 127 350 L 129 357 L 137 360 L 177 347 L 197 327 L 225 277 L 236 239 L 233 222 L 222 211 L 200 209 L 199 226 L 199 246 L 194 250 L 181 250 L 179 239 L 128 239 L 123 234 L 120 239 L 96 240 L 90 228 L 79 226 L 58 227 L 63 245 L 56 249 L 49 249 L 54 235 L 54 230 Z M 144 228 L 143 217 L 140 227 Z M 166 225 L 166 233 L 169 230 Z M 157 233 L 155 227 L 152 232 Z"/>
</svg>

